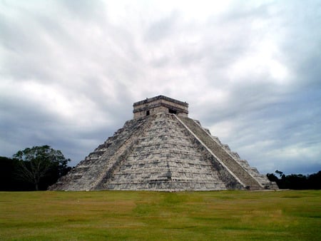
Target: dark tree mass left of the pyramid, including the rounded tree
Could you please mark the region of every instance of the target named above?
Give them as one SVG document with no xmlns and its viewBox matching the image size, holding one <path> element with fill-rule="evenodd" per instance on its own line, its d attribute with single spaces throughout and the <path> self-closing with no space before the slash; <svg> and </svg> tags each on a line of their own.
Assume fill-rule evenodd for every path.
<svg viewBox="0 0 321 241">
<path fill-rule="evenodd" d="M 12 158 L 0 157 L 0 190 L 47 190 L 71 170 L 68 162 L 49 145 L 19 150 Z"/>
</svg>

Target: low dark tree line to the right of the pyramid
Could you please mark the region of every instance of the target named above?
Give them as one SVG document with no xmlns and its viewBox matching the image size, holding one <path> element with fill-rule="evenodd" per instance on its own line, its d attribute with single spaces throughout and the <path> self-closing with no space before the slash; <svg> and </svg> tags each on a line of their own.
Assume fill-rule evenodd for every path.
<svg viewBox="0 0 321 241">
<path fill-rule="evenodd" d="M 280 189 L 293 189 L 293 190 L 305 190 L 305 189 L 321 189 L 321 170 L 318 173 L 311 175 L 302 174 L 290 174 L 285 175 L 280 170 L 276 170 L 275 173 L 267 173 L 267 178 L 277 183 Z"/>
</svg>

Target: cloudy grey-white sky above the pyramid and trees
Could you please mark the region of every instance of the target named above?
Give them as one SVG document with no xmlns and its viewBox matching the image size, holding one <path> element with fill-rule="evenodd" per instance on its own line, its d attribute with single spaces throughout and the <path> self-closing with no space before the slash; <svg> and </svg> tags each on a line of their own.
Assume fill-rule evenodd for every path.
<svg viewBox="0 0 321 241">
<path fill-rule="evenodd" d="M 74 166 L 164 95 L 260 173 L 316 173 L 320 26 L 309 0 L 0 0 L 0 156 Z"/>
</svg>

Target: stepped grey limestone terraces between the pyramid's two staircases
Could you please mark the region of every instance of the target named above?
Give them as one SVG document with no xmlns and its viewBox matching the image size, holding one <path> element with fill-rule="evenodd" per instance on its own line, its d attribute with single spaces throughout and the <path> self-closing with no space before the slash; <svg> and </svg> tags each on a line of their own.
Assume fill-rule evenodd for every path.
<svg viewBox="0 0 321 241">
<path fill-rule="evenodd" d="M 150 128 L 144 128 L 103 188 L 143 190 L 151 187 L 148 183 L 154 183 L 153 190 L 226 189 L 190 134 L 172 114 L 164 113 L 156 116 Z"/>
</svg>

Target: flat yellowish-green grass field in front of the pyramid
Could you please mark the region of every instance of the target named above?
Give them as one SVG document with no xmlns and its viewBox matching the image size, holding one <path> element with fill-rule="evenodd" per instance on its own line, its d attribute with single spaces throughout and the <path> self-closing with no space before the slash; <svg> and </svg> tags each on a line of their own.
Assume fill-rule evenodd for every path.
<svg viewBox="0 0 321 241">
<path fill-rule="evenodd" d="M 0 240 L 321 240 L 321 191 L 1 192 Z"/>
</svg>

